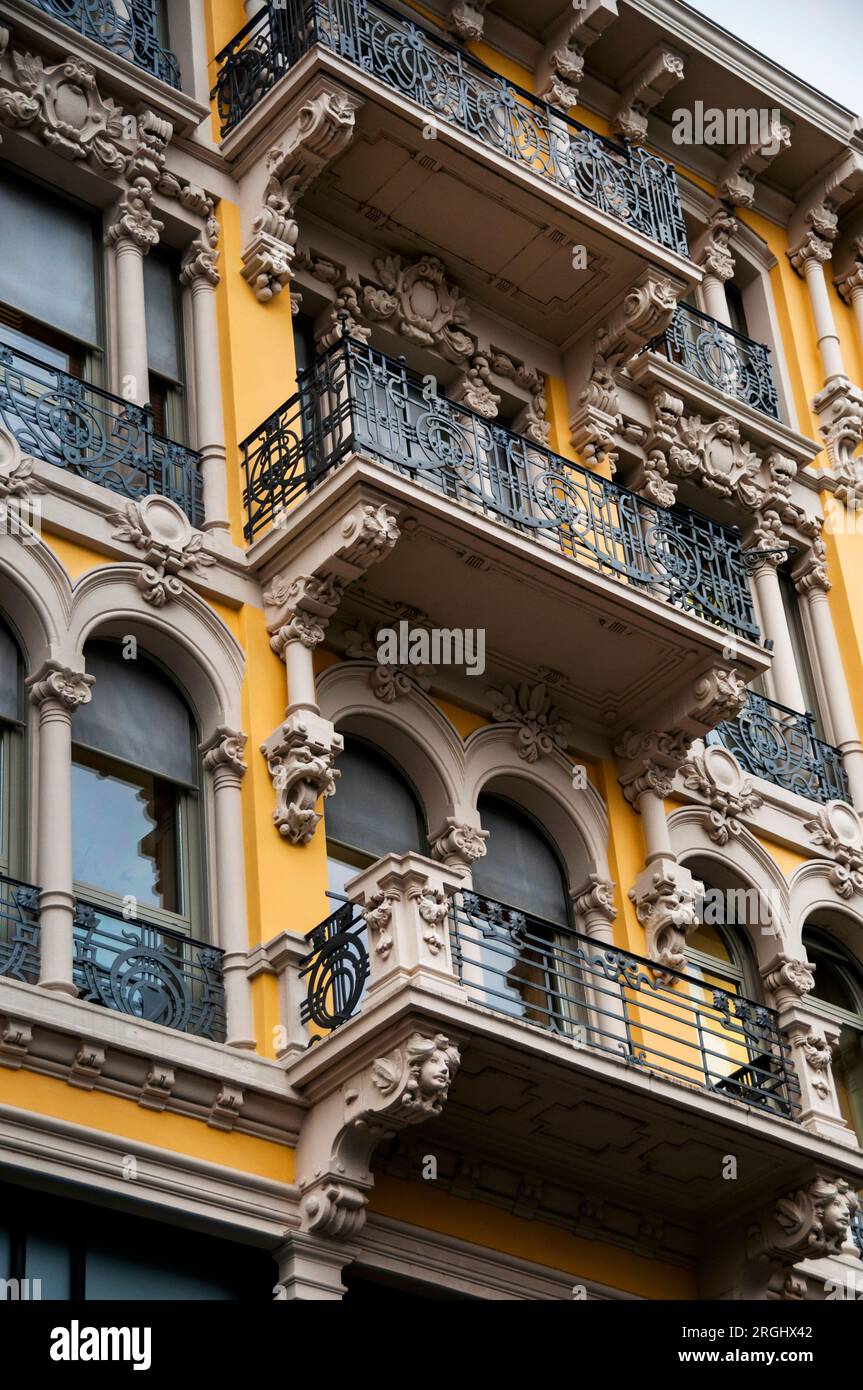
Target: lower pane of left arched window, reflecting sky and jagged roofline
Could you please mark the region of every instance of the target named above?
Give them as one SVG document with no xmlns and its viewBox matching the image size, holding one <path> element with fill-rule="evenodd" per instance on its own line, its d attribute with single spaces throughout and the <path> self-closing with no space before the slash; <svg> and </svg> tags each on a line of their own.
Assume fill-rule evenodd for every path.
<svg viewBox="0 0 863 1390">
<path fill-rule="evenodd" d="M 78 753 L 72 766 L 72 874 L 142 908 L 182 912 L 179 794 L 171 783 Z"/>
</svg>

